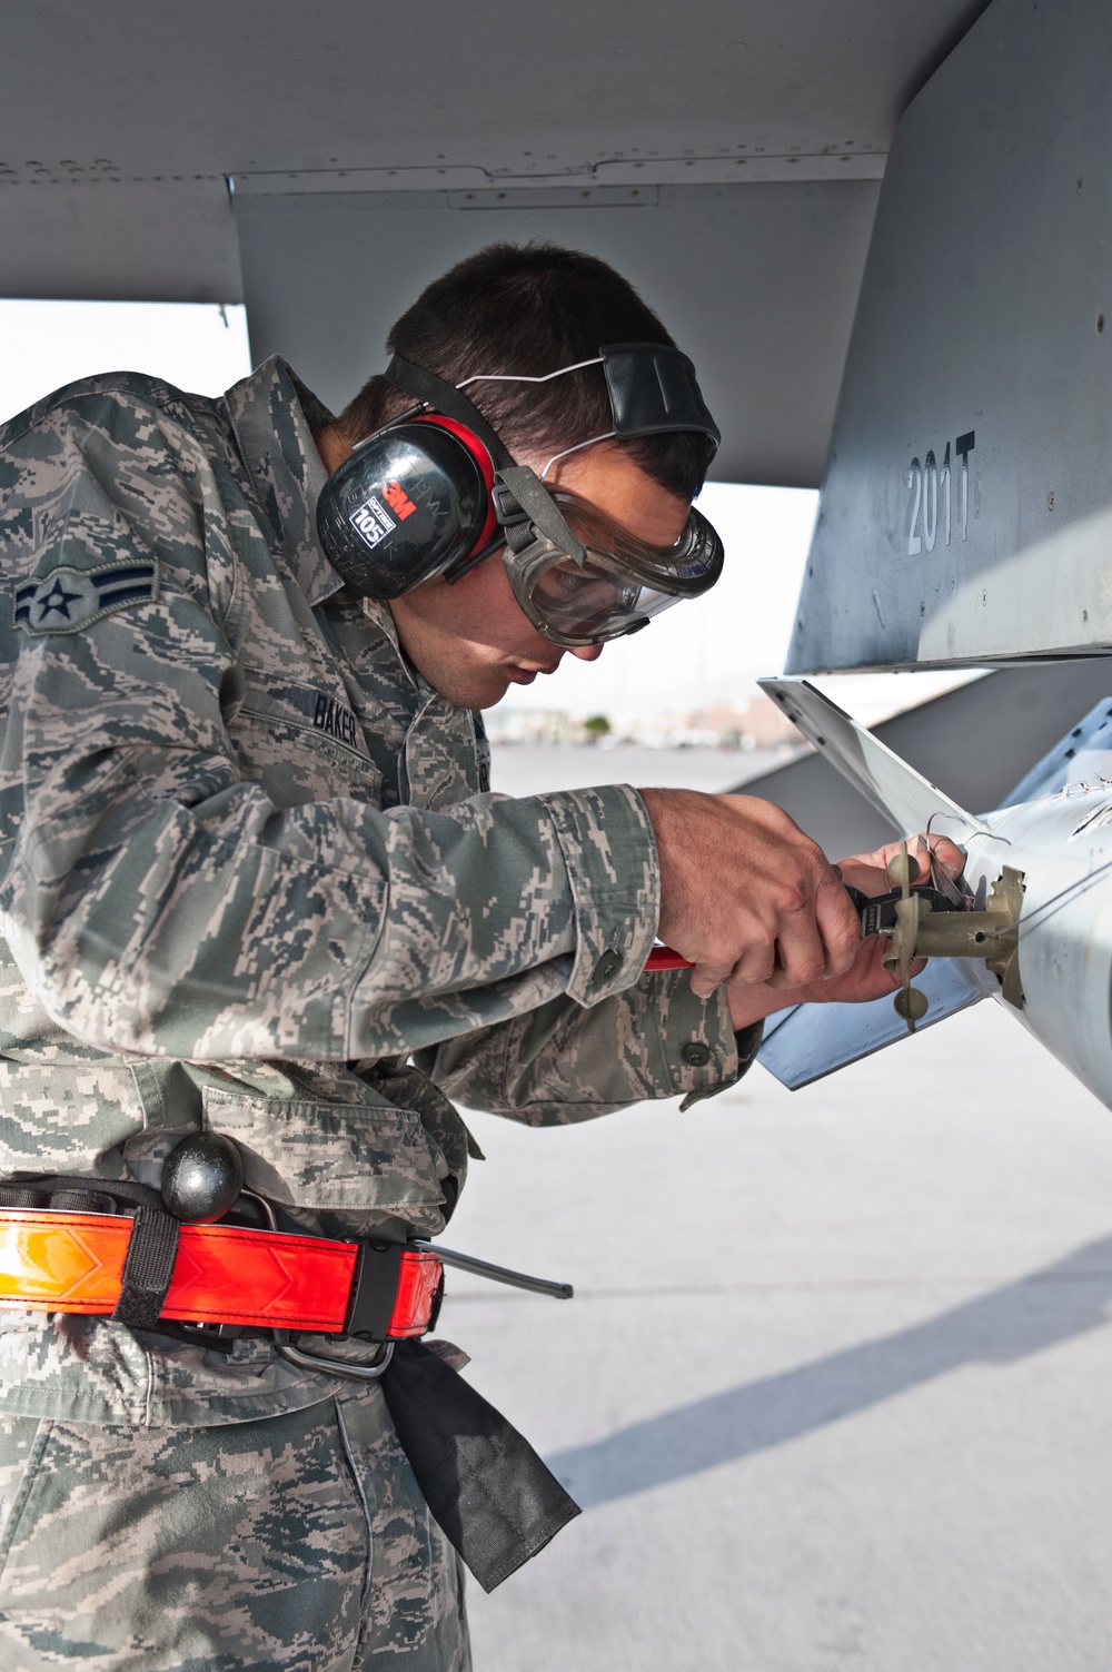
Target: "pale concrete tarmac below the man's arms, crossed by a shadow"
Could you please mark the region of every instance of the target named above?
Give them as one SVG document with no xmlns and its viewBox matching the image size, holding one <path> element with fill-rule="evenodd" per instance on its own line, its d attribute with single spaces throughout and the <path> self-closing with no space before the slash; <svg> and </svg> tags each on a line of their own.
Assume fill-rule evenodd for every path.
<svg viewBox="0 0 1112 1672">
<path fill-rule="evenodd" d="M 475 1115 L 440 1333 L 584 1506 L 477 1672 L 1109 1672 L 1112 1114 L 997 1005 L 803 1092 Z"/>
</svg>

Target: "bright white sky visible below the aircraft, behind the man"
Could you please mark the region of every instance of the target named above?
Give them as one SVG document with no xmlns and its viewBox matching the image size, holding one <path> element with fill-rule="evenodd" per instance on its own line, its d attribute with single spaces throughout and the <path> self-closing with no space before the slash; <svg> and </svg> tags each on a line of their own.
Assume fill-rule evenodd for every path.
<svg viewBox="0 0 1112 1672">
<path fill-rule="evenodd" d="M 219 395 L 249 370 L 244 308 L 0 299 L 0 421 L 95 371 L 147 371 Z M 513 707 L 650 719 L 719 701 L 744 706 L 759 674 L 783 669 L 818 493 L 709 483 L 699 507 L 726 545 L 717 587 L 677 604 L 645 632 L 609 644 L 597 662 L 565 657 L 552 677 L 513 691 Z M 871 674 L 816 684 L 875 722 L 963 677 Z"/>
</svg>

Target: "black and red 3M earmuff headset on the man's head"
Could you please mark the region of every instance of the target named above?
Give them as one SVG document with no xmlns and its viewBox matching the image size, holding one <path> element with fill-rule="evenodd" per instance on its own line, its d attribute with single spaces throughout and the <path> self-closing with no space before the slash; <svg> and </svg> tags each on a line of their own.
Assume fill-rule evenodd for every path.
<svg viewBox="0 0 1112 1672">
<path fill-rule="evenodd" d="M 679 349 L 620 343 L 600 349 L 599 363 L 614 436 L 697 430 L 717 446 L 694 366 Z M 530 540 L 530 525 L 584 560 L 537 473 L 513 463 L 462 390 L 400 354 L 386 380 L 416 405 L 351 450 L 316 508 L 321 545 L 353 592 L 388 600 L 436 575 L 458 580 L 500 547 Z"/>
</svg>

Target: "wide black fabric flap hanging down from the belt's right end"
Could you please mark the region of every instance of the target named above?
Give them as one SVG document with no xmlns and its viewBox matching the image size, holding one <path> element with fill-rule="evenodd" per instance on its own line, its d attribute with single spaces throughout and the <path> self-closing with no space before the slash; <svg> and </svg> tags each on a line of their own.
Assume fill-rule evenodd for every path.
<svg viewBox="0 0 1112 1672">
<path fill-rule="evenodd" d="M 381 1379 L 428 1508 L 490 1592 L 580 1510 L 530 1443 L 420 1341 L 398 1341 Z"/>
</svg>

